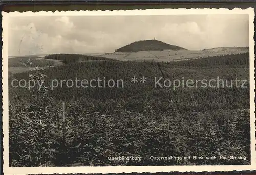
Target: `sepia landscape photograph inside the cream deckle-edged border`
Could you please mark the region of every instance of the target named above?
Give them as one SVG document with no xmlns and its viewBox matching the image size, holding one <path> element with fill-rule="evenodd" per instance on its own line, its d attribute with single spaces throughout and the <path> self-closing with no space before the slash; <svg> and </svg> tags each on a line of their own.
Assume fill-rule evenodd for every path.
<svg viewBox="0 0 256 175">
<path fill-rule="evenodd" d="M 249 14 L 109 13 L 8 17 L 9 167 L 254 163 Z"/>
</svg>

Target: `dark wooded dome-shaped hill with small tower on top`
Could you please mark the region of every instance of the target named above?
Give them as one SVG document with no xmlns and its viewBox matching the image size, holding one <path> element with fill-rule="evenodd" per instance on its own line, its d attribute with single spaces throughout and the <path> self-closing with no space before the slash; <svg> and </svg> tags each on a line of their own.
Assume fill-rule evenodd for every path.
<svg viewBox="0 0 256 175">
<path fill-rule="evenodd" d="M 116 49 L 115 52 L 138 52 L 138 51 L 163 51 L 163 50 L 186 50 L 185 48 L 166 44 L 158 40 L 136 41 L 129 45 Z"/>
</svg>

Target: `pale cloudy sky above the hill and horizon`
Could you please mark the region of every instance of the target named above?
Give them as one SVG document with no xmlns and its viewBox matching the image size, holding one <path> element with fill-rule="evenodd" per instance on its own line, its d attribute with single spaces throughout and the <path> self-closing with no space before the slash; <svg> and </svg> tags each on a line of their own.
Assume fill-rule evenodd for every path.
<svg viewBox="0 0 256 175">
<path fill-rule="evenodd" d="M 248 46 L 248 15 L 26 16 L 9 20 L 9 56 L 102 53 L 154 39 L 186 49 Z"/>
</svg>

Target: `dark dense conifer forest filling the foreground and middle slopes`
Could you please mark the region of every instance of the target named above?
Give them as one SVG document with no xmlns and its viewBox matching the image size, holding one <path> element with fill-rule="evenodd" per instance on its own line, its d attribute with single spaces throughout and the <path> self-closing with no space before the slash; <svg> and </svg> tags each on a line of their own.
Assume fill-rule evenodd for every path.
<svg viewBox="0 0 256 175">
<path fill-rule="evenodd" d="M 45 59 L 63 60 L 65 65 L 9 75 L 10 166 L 250 164 L 248 53 L 179 62 L 117 61 L 71 54 Z M 136 83 L 131 82 L 134 76 Z M 147 77 L 145 83 L 140 82 L 143 76 Z M 70 88 L 64 83 L 51 87 L 52 80 L 98 77 L 122 79 L 124 86 Z M 161 84 L 166 79 L 217 77 L 247 82 L 246 88 L 173 89 L 154 87 L 155 77 L 163 78 Z M 11 85 L 14 79 L 44 81 L 44 86 L 40 90 L 37 86 L 15 88 Z M 217 159 L 185 160 L 189 155 Z M 109 160 L 119 156 L 142 160 Z M 151 156 L 182 159 L 143 159 Z M 227 159 L 218 159 L 220 156 Z"/>
</svg>

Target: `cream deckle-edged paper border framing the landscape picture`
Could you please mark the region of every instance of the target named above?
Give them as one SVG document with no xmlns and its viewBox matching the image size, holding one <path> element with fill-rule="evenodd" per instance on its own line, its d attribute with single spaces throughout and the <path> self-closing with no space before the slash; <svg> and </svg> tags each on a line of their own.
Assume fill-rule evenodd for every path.
<svg viewBox="0 0 256 175">
<path fill-rule="evenodd" d="M 249 15 L 249 49 L 250 49 L 250 114 L 251 114 L 251 165 L 226 166 L 107 166 L 107 167 L 9 167 L 8 138 L 8 18 L 10 16 L 100 16 L 100 15 L 188 15 L 188 14 L 248 14 Z M 65 173 L 132 173 L 132 172 L 202 172 L 202 171 L 242 171 L 256 170 L 255 151 L 255 81 L 254 81 L 254 9 L 147 9 L 147 10 L 114 10 L 114 11 L 56 11 L 56 12 L 2 12 L 3 20 L 3 146 L 4 174 L 65 174 Z"/>
</svg>

